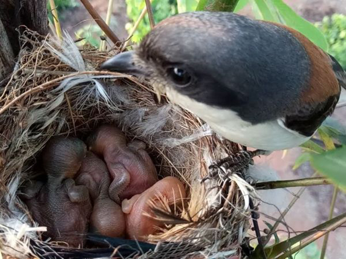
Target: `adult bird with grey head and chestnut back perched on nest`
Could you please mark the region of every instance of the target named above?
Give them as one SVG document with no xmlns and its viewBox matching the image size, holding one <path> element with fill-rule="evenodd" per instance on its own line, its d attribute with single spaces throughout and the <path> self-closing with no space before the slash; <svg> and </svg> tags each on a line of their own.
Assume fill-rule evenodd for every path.
<svg viewBox="0 0 346 259">
<path fill-rule="evenodd" d="M 212 166 L 224 172 L 303 144 L 346 88 L 340 64 L 301 33 L 229 12 L 167 18 L 134 51 L 101 69 L 146 76 L 158 96 L 166 94 L 224 138 L 258 149 Z"/>
</svg>

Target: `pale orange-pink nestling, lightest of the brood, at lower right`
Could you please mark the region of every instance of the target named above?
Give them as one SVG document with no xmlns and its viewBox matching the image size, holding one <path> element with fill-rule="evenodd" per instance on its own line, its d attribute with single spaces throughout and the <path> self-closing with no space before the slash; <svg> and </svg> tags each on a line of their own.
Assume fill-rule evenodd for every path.
<svg viewBox="0 0 346 259">
<path fill-rule="evenodd" d="M 130 200 L 124 200 L 122 208 L 123 212 L 126 213 L 126 228 L 129 238 L 145 241 L 158 228 L 164 227 L 164 223 L 152 218 L 155 215 L 150 207 L 150 201 L 158 207 L 162 206 L 159 197 L 164 197 L 169 205 L 181 204 L 186 197 L 184 185 L 178 179 L 169 176 L 160 180 L 142 194 L 137 194 Z"/>
</svg>

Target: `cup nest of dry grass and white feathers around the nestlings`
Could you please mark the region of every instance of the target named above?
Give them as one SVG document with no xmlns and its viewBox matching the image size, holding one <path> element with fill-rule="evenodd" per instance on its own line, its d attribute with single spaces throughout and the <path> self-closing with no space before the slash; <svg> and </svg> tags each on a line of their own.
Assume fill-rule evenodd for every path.
<svg viewBox="0 0 346 259">
<path fill-rule="evenodd" d="M 188 194 L 182 210 L 157 214 L 167 228 L 150 236 L 149 242 L 157 244 L 154 251 L 143 255 L 138 250 L 136 256 L 244 257 L 252 187 L 236 174 L 201 183 L 211 162 L 238 151 L 236 144 L 222 140 L 167 99 L 157 104 L 145 81 L 97 71 L 114 51 L 79 50 L 67 34 L 59 43 L 29 30 L 21 44 L 14 72 L 0 85 L 2 253 L 17 258 L 83 253 L 42 240 L 44 227 L 33 221 L 17 194 L 35 175 L 36 158 L 52 136 L 85 139 L 99 124 L 110 123 L 121 127 L 129 140 L 144 141 L 159 176 L 177 177 Z"/>
</svg>

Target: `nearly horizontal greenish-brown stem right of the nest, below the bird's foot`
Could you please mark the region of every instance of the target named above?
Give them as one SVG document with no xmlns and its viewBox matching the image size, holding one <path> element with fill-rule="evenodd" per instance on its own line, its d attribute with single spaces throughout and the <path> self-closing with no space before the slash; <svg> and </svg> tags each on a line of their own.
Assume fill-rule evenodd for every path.
<svg viewBox="0 0 346 259">
<path fill-rule="evenodd" d="M 277 189 L 277 188 L 288 188 L 288 187 L 303 187 L 303 186 L 313 186 L 313 185 L 330 185 L 332 184 L 325 177 L 316 177 L 316 178 L 303 178 L 297 180 L 286 180 L 286 181 L 270 181 L 256 183 L 254 185 L 257 189 Z"/>
</svg>

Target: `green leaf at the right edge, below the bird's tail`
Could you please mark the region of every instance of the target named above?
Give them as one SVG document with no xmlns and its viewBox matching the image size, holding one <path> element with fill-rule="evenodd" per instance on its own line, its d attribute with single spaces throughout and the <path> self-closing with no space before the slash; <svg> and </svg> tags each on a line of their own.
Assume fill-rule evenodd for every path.
<svg viewBox="0 0 346 259">
<path fill-rule="evenodd" d="M 346 146 L 323 154 L 311 154 L 310 163 L 333 183 L 346 189 Z"/>
</svg>

